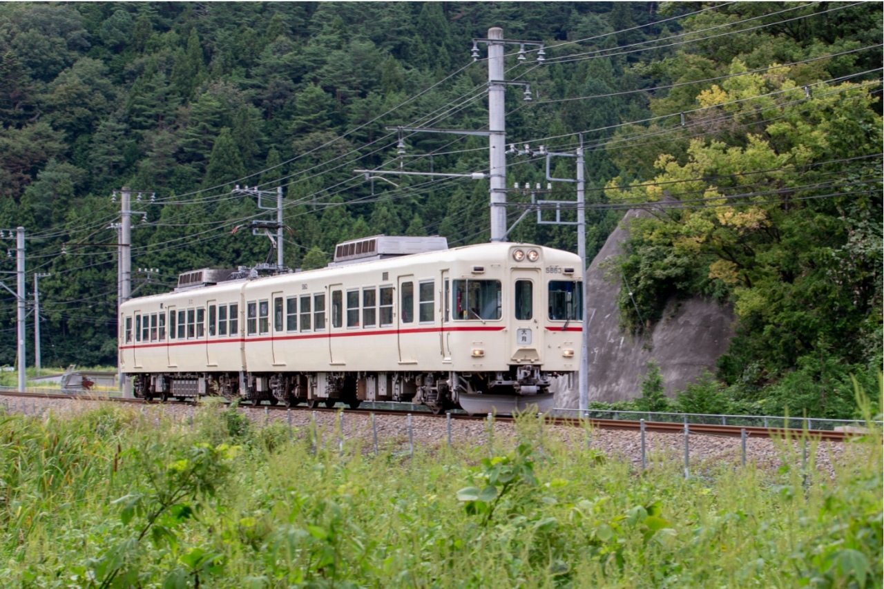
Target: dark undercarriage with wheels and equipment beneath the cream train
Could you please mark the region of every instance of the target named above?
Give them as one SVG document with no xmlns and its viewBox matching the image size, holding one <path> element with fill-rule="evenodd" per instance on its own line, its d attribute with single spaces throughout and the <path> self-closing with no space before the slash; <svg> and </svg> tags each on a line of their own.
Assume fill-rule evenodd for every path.
<svg viewBox="0 0 884 589">
<path fill-rule="evenodd" d="M 356 409 L 362 402 L 411 402 L 433 413 L 511 414 L 552 409 L 550 374 L 538 366 L 503 372 L 164 372 L 128 375 L 140 399 L 186 401 L 222 396 L 253 405 L 306 403 Z"/>
</svg>

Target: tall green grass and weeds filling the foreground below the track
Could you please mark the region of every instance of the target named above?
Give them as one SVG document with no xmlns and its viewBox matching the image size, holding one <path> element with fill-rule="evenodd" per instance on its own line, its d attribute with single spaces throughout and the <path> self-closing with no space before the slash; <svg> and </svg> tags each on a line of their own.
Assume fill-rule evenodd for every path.
<svg viewBox="0 0 884 589">
<path fill-rule="evenodd" d="M 834 478 L 644 474 L 517 425 L 414 459 L 208 403 L 0 414 L 0 578 L 23 587 L 880 586 L 881 439 Z M 401 448 L 399 448 L 401 449 Z M 811 453 L 814 455 L 815 453 Z M 804 479 L 804 475 L 808 478 Z"/>
</svg>

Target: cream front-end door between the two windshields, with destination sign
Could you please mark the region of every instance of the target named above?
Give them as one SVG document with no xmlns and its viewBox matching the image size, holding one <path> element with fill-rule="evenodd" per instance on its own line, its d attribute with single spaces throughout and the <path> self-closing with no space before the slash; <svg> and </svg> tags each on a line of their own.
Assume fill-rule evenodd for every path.
<svg viewBox="0 0 884 589">
<path fill-rule="evenodd" d="M 538 350 L 543 349 L 544 293 L 543 280 L 539 270 L 524 268 L 510 272 L 510 300 L 513 302 L 510 319 L 513 331 L 510 333 L 512 359 L 521 363 L 538 363 Z"/>
</svg>

